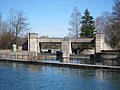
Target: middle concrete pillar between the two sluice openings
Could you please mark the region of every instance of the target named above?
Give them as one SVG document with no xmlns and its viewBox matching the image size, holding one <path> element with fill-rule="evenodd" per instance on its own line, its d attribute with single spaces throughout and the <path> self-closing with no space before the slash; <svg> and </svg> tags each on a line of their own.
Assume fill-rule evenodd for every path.
<svg viewBox="0 0 120 90">
<path fill-rule="evenodd" d="M 70 57 L 70 54 L 72 54 L 71 41 L 69 38 L 64 38 L 62 41 L 62 52 L 63 57 Z"/>
</svg>

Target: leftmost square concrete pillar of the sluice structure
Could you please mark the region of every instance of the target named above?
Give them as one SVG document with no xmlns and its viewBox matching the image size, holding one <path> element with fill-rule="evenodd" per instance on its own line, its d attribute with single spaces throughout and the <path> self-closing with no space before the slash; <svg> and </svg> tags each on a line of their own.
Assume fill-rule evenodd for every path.
<svg viewBox="0 0 120 90">
<path fill-rule="evenodd" d="M 28 51 L 40 52 L 37 33 L 28 34 Z"/>
</svg>

